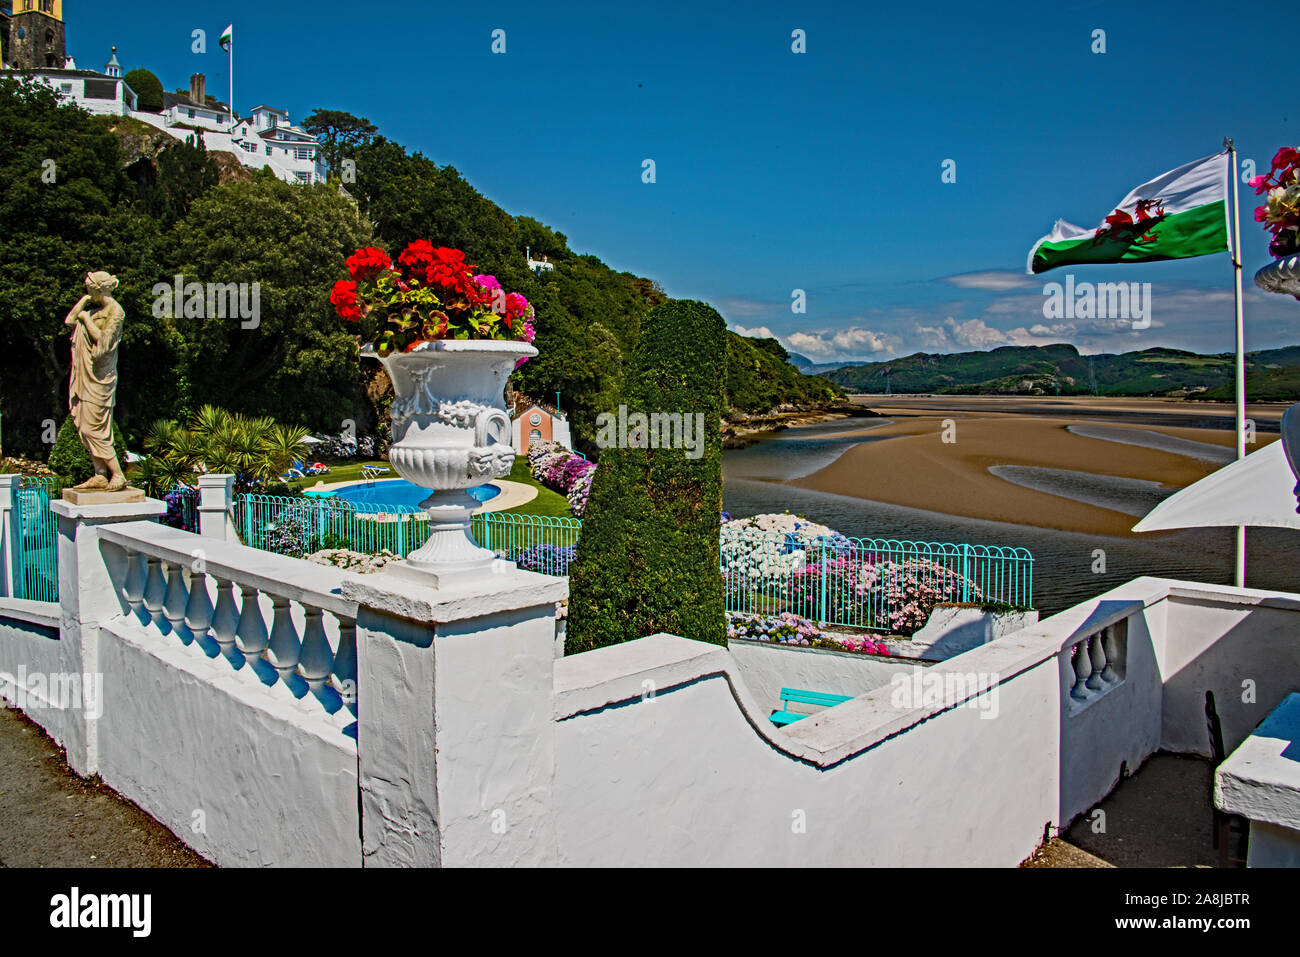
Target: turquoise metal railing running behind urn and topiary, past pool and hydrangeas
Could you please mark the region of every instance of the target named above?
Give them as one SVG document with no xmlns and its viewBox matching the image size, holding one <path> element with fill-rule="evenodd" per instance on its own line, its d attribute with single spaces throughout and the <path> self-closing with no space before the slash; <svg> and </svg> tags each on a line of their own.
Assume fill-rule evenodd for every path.
<svg viewBox="0 0 1300 957">
<path fill-rule="evenodd" d="M 248 545 L 290 555 L 318 549 L 406 557 L 429 534 L 411 506 L 332 498 L 239 495 L 235 519 Z M 521 568 L 567 575 L 582 523 L 546 515 L 480 512 L 474 537 Z M 1020 547 L 897 538 L 803 537 L 745 529 L 719 542 L 727 610 L 793 612 L 831 625 L 910 633 L 936 602 L 1030 609 L 1034 557 Z"/>
</svg>

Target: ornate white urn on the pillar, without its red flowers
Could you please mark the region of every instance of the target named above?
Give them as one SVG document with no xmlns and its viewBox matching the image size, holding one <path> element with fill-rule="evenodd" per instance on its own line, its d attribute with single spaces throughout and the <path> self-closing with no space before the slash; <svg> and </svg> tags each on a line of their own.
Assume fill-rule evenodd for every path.
<svg viewBox="0 0 1300 957">
<path fill-rule="evenodd" d="M 429 540 L 386 570 L 415 572 L 433 585 L 481 576 L 495 555 L 474 541 L 471 515 L 480 503 L 469 489 L 510 475 L 506 380 L 537 350 L 526 342 L 446 339 L 386 356 L 367 346 L 361 355 L 384 363 L 393 380 L 389 462 L 430 492 L 420 503 L 429 512 Z"/>
</svg>

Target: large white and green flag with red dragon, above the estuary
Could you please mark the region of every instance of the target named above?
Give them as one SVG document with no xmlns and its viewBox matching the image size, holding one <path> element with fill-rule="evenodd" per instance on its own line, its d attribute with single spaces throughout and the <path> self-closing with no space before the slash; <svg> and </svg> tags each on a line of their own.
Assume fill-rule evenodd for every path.
<svg viewBox="0 0 1300 957">
<path fill-rule="evenodd" d="M 1228 248 L 1227 177 L 1225 150 L 1143 183 L 1097 229 L 1057 220 L 1030 250 L 1028 270 L 1223 252 Z"/>
</svg>

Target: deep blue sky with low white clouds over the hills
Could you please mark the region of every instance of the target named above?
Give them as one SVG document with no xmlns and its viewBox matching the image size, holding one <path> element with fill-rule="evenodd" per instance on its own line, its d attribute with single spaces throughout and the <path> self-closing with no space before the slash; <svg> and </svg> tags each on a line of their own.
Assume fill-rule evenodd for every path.
<svg viewBox="0 0 1300 957">
<path fill-rule="evenodd" d="M 1072 270 L 1150 282 L 1141 332 L 1044 329 L 1044 282 L 1066 270 L 1031 278 L 1024 261 L 1057 217 L 1095 225 L 1225 135 L 1265 168 L 1296 142 L 1257 18 L 1110 0 L 706 7 L 231 0 L 146 16 L 65 0 L 65 18 L 78 65 L 116 44 L 125 69 L 166 88 L 202 72 L 222 99 L 217 36 L 233 21 L 237 109 L 365 116 L 572 248 L 819 361 L 1013 342 L 1232 348 L 1227 254 Z M 806 53 L 792 52 L 796 29 Z M 1105 53 L 1091 51 L 1096 29 Z M 1243 186 L 1247 347 L 1300 342 L 1300 303 L 1251 282 L 1270 261 L 1254 205 Z"/>
</svg>

